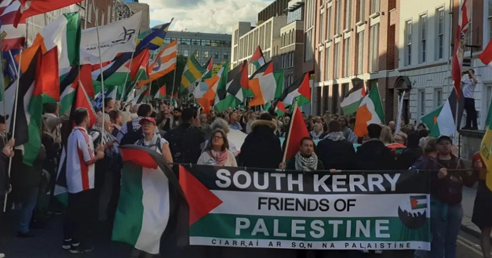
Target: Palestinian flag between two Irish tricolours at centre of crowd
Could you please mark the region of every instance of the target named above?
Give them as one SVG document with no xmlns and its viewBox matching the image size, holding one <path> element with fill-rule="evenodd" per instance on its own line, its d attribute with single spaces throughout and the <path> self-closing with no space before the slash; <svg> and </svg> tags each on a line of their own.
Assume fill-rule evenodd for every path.
<svg viewBox="0 0 492 258">
<path fill-rule="evenodd" d="M 227 108 L 236 108 L 243 103 L 243 91 L 242 88 L 248 84 L 247 78 L 247 62 L 244 61 L 239 68 L 239 72 L 232 80 L 228 80 L 225 91 L 217 88 L 217 97 L 219 101 L 215 101 L 215 109 L 218 112 L 222 112 Z M 235 72 L 236 69 L 233 71 Z M 227 79 L 231 73 L 227 75 Z"/>
</svg>

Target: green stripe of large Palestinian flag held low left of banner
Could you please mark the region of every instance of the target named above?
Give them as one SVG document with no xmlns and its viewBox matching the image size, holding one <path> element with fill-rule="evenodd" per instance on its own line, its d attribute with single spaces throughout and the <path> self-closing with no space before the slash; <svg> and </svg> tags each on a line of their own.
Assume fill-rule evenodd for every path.
<svg viewBox="0 0 492 258">
<path fill-rule="evenodd" d="M 142 230 L 144 217 L 142 167 L 131 162 L 124 164 L 121 182 L 122 191 L 119 203 L 125 203 L 125 205 L 118 204 L 112 239 L 113 241 L 121 241 L 135 246 Z M 122 207 L 132 208 L 123 209 Z"/>
</svg>

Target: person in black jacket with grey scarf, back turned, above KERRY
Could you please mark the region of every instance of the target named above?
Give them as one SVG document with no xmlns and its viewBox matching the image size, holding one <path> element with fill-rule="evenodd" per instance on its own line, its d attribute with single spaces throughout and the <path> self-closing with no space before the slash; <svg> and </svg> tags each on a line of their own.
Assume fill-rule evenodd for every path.
<svg viewBox="0 0 492 258">
<path fill-rule="evenodd" d="M 316 153 L 326 169 L 355 169 L 354 144 L 345 139 L 337 120 L 328 123 L 328 134 L 318 143 Z"/>
</svg>

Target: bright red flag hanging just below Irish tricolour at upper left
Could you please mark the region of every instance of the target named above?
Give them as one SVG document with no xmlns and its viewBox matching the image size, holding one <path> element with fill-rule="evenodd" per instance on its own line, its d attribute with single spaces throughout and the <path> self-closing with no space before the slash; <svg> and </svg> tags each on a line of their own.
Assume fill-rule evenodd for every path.
<svg viewBox="0 0 492 258">
<path fill-rule="evenodd" d="M 60 101 L 60 76 L 58 71 L 58 47 L 48 51 L 43 56 L 43 65 L 38 67 L 42 76 L 36 78 L 36 83 L 43 90 L 43 103 Z"/>
</svg>

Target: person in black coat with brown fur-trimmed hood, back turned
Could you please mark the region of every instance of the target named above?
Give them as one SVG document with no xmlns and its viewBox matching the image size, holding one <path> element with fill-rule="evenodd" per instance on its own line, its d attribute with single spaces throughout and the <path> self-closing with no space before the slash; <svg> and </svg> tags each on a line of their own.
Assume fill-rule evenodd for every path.
<svg viewBox="0 0 492 258">
<path fill-rule="evenodd" d="M 280 140 L 275 135 L 277 123 L 264 113 L 251 124 L 251 133 L 246 137 L 239 160 L 241 166 L 277 169 L 282 162 Z"/>
</svg>

